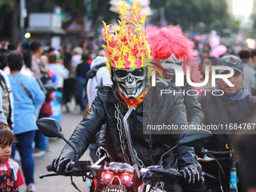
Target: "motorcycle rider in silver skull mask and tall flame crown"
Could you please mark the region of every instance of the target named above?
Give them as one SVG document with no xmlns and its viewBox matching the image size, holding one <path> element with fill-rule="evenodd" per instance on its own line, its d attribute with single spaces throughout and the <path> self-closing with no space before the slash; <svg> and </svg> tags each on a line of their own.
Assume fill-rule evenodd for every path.
<svg viewBox="0 0 256 192">
<path fill-rule="evenodd" d="M 169 124 L 178 127 L 187 125 L 187 115 L 183 98 L 175 96 L 160 96 L 160 89 L 164 84 L 157 83 L 151 87 L 151 67 L 146 59 L 151 59 L 151 50 L 145 38 L 145 16 L 137 16 L 136 6 L 133 5 L 133 20 L 126 17 L 129 11 L 121 11 L 120 31 L 111 32 L 113 27 L 105 26 L 106 62 L 113 85 L 111 87 L 99 85 L 96 98 L 91 105 L 87 117 L 78 124 L 69 142 L 78 151 L 78 157 L 87 150 L 93 137 L 106 123 L 105 147 L 111 162 L 131 163 L 126 146 L 126 136 L 123 130 L 124 114 L 132 106 L 136 108 L 129 119 L 130 135 L 136 160 L 140 168 L 157 165 L 160 156 L 176 145 L 184 136 L 184 130 L 177 134 L 152 134 L 143 127 L 151 121 L 155 124 Z M 159 85 L 158 85 L 159 84 Z M 173 87 L 165 87 L 173 90 Z M 153 101 L 153 102 L 152 102 Z M 149 111 L 154 111 L 150 113 Z M 144 114 L 149 114 L 144 117 Z M 75 151 L 66 145 L 58 158 L 53 160 L 56 172 L 69 169 Z M 169 169 L 177 160 L 177 168 L 184 176 L 184 186 L 190 191 L 203 191 L 202 172 L 194 154 L 194 149 L 187 146 L 176 148 L 175 154 L 170 154 L 163 160 L 163 169 Z M 196 187 L 194 187 L 196 186 Z M 160 187 L 160 186 L 159 186 Z M 181 191 L 178 184 L 164 184 L 167 191 Z M 184 190 L 183 190 L 184 191 Z"/>
</svg>

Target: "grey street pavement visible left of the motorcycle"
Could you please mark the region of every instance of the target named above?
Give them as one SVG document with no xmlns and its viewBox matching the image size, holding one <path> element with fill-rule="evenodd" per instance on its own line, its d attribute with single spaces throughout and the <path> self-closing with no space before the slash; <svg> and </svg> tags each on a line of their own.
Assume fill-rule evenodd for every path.
<svg viewBox="0 0 256 192">
<path fill-rule="evenodd" d="M 75 127 L 78 125 L 78 123 L 82 120 L 83 114 L 79 113 L 79 110 L 77 111 L 70 111 L 70 113 L 66 113 L 63 111 L 62 113 L 62 133 L 66 137 L 66 139 L 69 139 L 69 137 L 72 135 L 73 131 L 75 130 Z M 76 190 L 72 184 L 70 177 L 64 177 L 64 176 L 53 176 L 53 177 L 45 177 L 45 178 L 39 178 L 39 175 L 49 174 L 52 172 L 47 172 L 45 167 L 47 164 L 52 163 L 53 159 L 56 157 L 59 157 L 60 152 L 62 151 L 62 148 L 66 142 L 64 142 L 62 139 L 57 138 L 50 138 L 49 139 L 49 152 L 44 154 L 42 157 L 34 157 L 35 160 L 35 187 L 37 189 L 37 192 L 73 192 L 78 191 Z M 83 157 L 81 157 L 81 160 L 91 160 L 89 155 L 89 150 L 87 150 Z M 17 161 L 20 165 L 20 161 Z M 20 165 L 21 167 L 21 165 Z M 74 177 L 73 181 L 75 181 L 75 184 L 77 184 L 78 188 L 82 192 L 89 191 L 89 188 L 87 187 L 87 183 L 82 181 L 81 177 Z M 26 184 L 23 184 L 20 186 L 20 192 L 26 192 Z"/>
</svg>

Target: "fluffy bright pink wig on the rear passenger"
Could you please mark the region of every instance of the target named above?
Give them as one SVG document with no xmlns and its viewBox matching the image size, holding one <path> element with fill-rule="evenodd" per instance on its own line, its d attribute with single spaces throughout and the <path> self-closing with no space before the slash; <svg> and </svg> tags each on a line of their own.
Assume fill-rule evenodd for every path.
<svg viewBox="0 0 256 192">
<path fill-rule="evenodd" d="M 187 65 L 190 66 L 190 78 L 194 83 L 200 83 L 202 75 L 194 57 L 194 42 L 187 38 L 179 26 L 156 27 L 147 26 L 148 44 L 151 45 L 153 59 L 168 59 L 172 53 L 177 59 L 184 59 L 183 71 L 187 74 Z"/>
</svg>

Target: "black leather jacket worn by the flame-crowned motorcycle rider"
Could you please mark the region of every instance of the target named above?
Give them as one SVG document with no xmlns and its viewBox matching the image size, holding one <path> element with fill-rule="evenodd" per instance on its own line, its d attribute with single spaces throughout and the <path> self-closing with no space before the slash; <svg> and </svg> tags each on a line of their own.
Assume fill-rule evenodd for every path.
<svg viewBox="0 0 256 192">
<path fill-rule="evenodd" d="M 148 98 L 153 101 L 151 104 L 151 121 L 154 122 L 154 124 L 175 124 L 178 125 L 178 127 L 187 124 L 183 97 L 179 94 L 175 96 L 172 94 L 163 94 L 163 96 L 160 96 L 161 88 L 158 85 L 159 84 L 157 84 L 157 87 L 151 88 L 151 94 L 145 97 L 144 101 L 136 108 L 136 112 L 132 114 L 129 120 L 133 147 L 145 166 L 150 165 L 148 131 L 144 133 L 142 128 L 143 124 L 145 125 L 148 121 L 148 117 L 145 117 L 146 115 L 143 117 L 143 114 L 148 112 Z M 172 93 L 174 90 L 173 87 L 165 87 L 165 89 L 172 90 Z M 117 119 L 114 116 L 116 111 L 114 103 L 119 102 L 118 100 L 121 101 L 121 98 L 116 88 L 99 87 L 97 96 L 93 101 L 87 117 L 84 117 L 81 123 L 78 124 L 75 132 L 69 139 L 78 150 L 79 157 L 87 150 L 88 145 L 101 129 L 102 124 L 106 123 L 105 148 L 108 151 L 110 159 L 111 161 L 124 162 L 117 130 Z M 127 106 L 124 104 L 120 105 L 123 107 L 123 114 L 126 114 L 126 111 L 128 111 Z M 170 130 L 170 134 L 151 136 L 154 164 L 158 164 L 160 156 L 183 138 L 184 132 L 184 130 L 180 130 L 179 134 L 171 134 L 172 130 Z M 74 154 L 73 149 L 70 148 L 69 145 L 66 145 L 59 157 L 74 160 Z M 180 146 L 176 148 L 175 154 L 178 159 L 179 169 L 190 166 L 200 170 L 194 148 Z M 163 163 L 167 167 L 171 166 L 169 158 L 166 158 Z"/>
</svg>

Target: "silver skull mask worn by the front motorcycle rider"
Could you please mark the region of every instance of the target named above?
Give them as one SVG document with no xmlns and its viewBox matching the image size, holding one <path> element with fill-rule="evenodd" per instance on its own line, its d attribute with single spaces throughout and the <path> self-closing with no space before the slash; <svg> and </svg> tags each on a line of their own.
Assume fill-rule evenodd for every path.
<svg viewBox="0 0 256 192">
<path fill-rule="evenodd" d="M 120 93 L 126 99 L 136 99 L 147 85 L 147 68 L 114 69 L 114 78 Z"/>
</svg>

